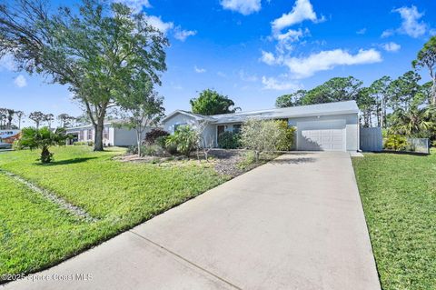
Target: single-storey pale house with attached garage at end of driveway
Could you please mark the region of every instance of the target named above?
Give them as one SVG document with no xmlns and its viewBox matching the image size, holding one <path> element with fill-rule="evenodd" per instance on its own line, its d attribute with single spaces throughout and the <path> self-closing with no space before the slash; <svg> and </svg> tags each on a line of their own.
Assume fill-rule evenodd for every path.
<svg viewBox="0 0 436 290">
<path fill-rule="evenodd" d="M 203 124 L 203 139 L 216 147 L 218 135 L 239 132 L 243 122 L 250 118 L 287 120 L 297 130 L 296 150 L 359 150 L 359 108 L 355 101 L 207 116 L 176 110 L 163 118 L 162 125 L 173 134 L 180 125 Z"/>
</svg>

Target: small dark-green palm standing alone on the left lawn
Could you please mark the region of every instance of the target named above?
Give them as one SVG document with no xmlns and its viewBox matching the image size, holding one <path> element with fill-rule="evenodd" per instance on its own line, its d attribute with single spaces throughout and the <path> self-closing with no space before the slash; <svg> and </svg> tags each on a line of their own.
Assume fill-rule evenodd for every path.
<svg viewBox="0 0 436 290">
<path fill-rule="evenodd" d="M 69 136 L 65 134 L 64 128 L 57 128 L 54 131 L 48 127 L 36 129 L 33 127 L 24 128 L 18 145 L 21 148 L 29 148 L 30 150 L 41 148 L 40 161 L 43 164 L 50 163 L 53 160 L 53 153 L 48 148 L 54 145 L 65 145 L 65 141 Z"/>
</svg>

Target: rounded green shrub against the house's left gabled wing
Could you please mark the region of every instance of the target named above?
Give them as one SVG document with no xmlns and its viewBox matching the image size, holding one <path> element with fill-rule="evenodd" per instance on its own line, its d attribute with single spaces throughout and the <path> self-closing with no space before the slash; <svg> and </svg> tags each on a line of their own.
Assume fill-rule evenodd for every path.
<svg viewBox="0 0 436 290">
<path fill-rule="evenodd" d="M 189 156 L 199 144 L 200 136 L 188 125 L 183 125 L 174 132 L 173 135 L 169 135 L 165 141 L 167 148 L 175 147 L 177 152 L 185 156 Z"/>
</svg>

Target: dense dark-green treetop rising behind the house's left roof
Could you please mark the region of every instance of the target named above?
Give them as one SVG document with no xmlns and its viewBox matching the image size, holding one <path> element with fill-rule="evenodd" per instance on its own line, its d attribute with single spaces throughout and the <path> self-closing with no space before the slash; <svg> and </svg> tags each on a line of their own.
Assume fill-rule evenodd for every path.
<svg viewBox="0 0 436 290">
<path fill-rule="evenodd" d="M 197 98 L 190 100 L 192 111 L 201 115 L 217 115 L 234 113 L 239 107 L 233 107 L 234 103 L 226 95 L 205 89 Z"/>
</svg>

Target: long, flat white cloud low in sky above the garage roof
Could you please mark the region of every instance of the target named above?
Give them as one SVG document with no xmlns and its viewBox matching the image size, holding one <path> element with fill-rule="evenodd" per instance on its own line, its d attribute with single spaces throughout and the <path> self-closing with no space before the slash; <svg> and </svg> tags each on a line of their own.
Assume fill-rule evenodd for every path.
<svg viewBox="0 0 436 290">
<path fill-rule="evenodd" d="M 271 54 L 271 53 L 265 53 Z M 293 78 L 305 78 L 319 71 L 331 70 L 338 65 L 363 65 L 381 62 L 381 54 L 375 49 L 361 49 L 357 54 L 350 54 L 343 49 L 321 51 L 307 57 L 269 55 L 267 65 L 284 65 L 288 67 Z M 263 60 L 263 59 L 261 59 Z"/>
</svg>

